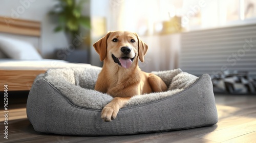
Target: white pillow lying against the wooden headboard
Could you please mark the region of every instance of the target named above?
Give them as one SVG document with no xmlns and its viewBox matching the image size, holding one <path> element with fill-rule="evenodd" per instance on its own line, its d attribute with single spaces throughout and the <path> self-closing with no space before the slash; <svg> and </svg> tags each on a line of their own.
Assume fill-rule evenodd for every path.
<svg viewBox="0 0 256 143">
<path fill-rule="evenodd" d="M 38 54 L 31 43 L 17 39 L 0 37 L 0 50 L 8 57 L 17 60 L 40 60 Z"/>
</svg>

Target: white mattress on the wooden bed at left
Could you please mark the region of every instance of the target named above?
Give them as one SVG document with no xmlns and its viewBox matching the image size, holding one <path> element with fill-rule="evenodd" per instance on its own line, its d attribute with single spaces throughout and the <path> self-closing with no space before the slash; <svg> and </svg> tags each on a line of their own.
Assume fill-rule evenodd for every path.
<svg viewBox="0 0 256 143">
<path fill-rule="evenodd" d="M 45 70 L 49 68 L 64 68 L 64 67 L 86 67 L 90 64 L 83 63 L 69 63 L 63 60 L 12 60 L 12 59 L 0 59 L 0 69 L 11 70 Z"/>
</svg>

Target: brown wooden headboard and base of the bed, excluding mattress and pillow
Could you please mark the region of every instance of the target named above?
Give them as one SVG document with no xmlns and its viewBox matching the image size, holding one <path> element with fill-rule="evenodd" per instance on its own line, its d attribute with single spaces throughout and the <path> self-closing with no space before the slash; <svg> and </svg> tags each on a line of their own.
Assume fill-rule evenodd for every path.
<svg viewBox="0 0 256 143">
<path fill-rule="evenodd" d="M 40 50 L 40 27 L 39 21 L 0 16 L 0 36 L 27 41 L 33 44 L 37 50 Z M 22 91 L 30 90 L 35 77 L 45 73 L 45 69 L 0 69 L 0 73 L 1 87 L 6 84 L 8 91 Z M 3 88 L 0 91 L 3 91 Z"/>
</svg>

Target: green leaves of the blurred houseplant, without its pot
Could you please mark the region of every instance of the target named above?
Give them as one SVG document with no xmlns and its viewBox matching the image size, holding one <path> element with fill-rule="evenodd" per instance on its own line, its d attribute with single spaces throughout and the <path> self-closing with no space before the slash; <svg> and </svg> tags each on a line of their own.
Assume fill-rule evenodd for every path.
<svg viewBox="0 0 256 143">
<path fill-rule="evenodd" d="M 54 32 L 64 31 L 69 43 L 76 35 L 80 35 L 80 28 L 90 29 L 90 17 L 82 15 L 84 0 L 57 0 L 58 3 L 50 11 L 50 15 L 57 16 L 58 26 Z"/>
</svg>

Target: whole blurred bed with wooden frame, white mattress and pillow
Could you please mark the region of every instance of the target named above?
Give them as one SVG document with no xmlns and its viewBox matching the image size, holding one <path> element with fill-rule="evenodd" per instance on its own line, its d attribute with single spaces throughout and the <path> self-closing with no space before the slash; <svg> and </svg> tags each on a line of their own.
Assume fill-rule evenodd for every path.
<svg viewBox="0 0 256 143">
<path fill-rule="evenodd" d="M 7 22 L 6 22 L 7 21 Z M 30 90 L 35 77 L 49 68 L 83 67 L 62 60 L 42 59 L 40 47 L 41 23 L 33 20 L 0 17 L 0 83 L 9 91 Z M 4 88 L 1 89 L 1 91 Z"/>
</svg>

